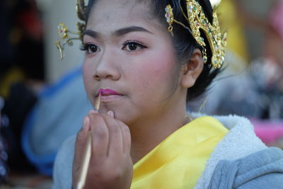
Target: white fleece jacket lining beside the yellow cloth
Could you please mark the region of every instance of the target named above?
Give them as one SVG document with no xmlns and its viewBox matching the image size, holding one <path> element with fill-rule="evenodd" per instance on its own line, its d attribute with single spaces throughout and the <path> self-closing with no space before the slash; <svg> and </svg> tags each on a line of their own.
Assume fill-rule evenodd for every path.
<svg viewBox="0 0 283 189">
<path fill-rule="evenodd" d="M 210 154 L 202 176 L 195 187 L 196 189 L 208 187 L 210 178 L 213 177 L 219 161 L 235 161 L 267 149 L 266 145 L 255 135 L 253 125 L 247 118 L 237 115 L 214 116 L 214 118 L 219 120 L 229 132 Z"/>
</svg>

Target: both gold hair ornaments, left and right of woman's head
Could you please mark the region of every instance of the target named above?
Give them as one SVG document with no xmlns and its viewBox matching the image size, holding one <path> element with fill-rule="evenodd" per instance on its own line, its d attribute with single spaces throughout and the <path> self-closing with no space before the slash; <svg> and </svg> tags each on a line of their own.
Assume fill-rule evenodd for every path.
<svg viewBox="0 0 283 189">
<path fill-rule="evenodd" d="M 180 3 L 180 0 L 179 0 Z M 205 17 L 202 10 L 202 6 L 195 0 L 186 0 L 187 4 L 187 14 L 185 14 L 181 8 L 183 16 L 187 19 L 187 22 L 190 25 L 188 28 L 185 24 L 176 21 L 173 16 L 173 8 L 170 5 L 166 6 L 166 21 L 168 22 L 168 31 L 173 35 L 173 23 L 178 23 L 186 28 L 195 38 L 197 43 L 202 46 L 202 57 L 204 63 L 207 62 L 207 49 L 204 42 L 204 38 L 200 36 L 200 31 L 206 35 L 209 42 L 210 49 L 212 50 L 212 67 L 220 68 L 224 64 L 224 56 L 226 52 L 226 34 L 225 31 L 221 34 L 220 26 L 216 12 L 213 12 L 213 23 L 209 23 L 208 19 Z M 78 32 L 71 32 L 64 23 L 59 23 L 58 25 L 58 34 L 61 38 L 56 41 L 56 46 L 60 52 L 61 59 L 64 58 L 64 47 L 65 45 L 73 45 L 73 40 L 82 40 L 83 30 L 86 28 L 86 18 L 84 13 L 86 11 L 86 6 L 84 0 L 76 0 L 76 13 L 78 18 L 83 22 L 78 22 Z M 69 37 L 72 35 L 73 37 Z"/>
</svg>

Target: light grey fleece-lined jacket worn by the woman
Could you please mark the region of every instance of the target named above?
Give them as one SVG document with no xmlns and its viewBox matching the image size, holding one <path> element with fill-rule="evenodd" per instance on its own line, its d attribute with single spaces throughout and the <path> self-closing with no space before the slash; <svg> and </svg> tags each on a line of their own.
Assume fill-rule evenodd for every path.
<svg viewBox="0 0 283 189">
<path fill-rule="evenodd" d="M 266 147 L 246 118 L 236 115 L 215 118 L 229 129 L 229 133 L 215 147 L 195 189 L 283 188 L 282 149 Z M 54 189 L 71 188 L 74 142 L 74 136 L 67 139 L 57 154 Z"/>
</svg>

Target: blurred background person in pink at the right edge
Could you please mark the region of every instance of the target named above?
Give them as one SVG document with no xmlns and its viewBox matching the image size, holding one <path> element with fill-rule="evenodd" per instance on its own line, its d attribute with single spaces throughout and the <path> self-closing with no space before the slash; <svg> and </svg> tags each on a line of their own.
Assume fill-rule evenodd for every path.
<svg viewBox="0 0 283 189">
<path fill-rule="evenodd" d="M 267 22 L 252 18 L 255 26 L 265 32 L 262 55 L 250 63 L 250 80 L 258 93 L 257 118 L 283 118 L 283 1 L 273 4 L 267 13 Z M 253 24 L 253 23 L 250 23 Z M 283 122 L 282 122 L 283 125 Z"/>
</svg>

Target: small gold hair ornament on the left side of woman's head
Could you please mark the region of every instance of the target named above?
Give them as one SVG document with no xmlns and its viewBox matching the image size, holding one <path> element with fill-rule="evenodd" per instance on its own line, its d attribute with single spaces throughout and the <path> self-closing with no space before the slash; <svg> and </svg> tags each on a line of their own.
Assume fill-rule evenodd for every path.
<svg viewBox="0 0 283 189">
<path fill-rule="evenodd" d="M 71 32 L 67 26 L 64 23 L 59 23 L 57 29 L 58 29 L 58 35 L 61 38 L 61 40 L 57 40 L 55 42 L 59 52 L 61 59 L 64 58 L 64 47 L 65 45 L 73 45 L 73 40 L 82 40 L 83 38 L 83 30 L 86 28 L 86 19 L 84 18 L 84 12 L 86 10 L 86 6 L 84 4 L 83 0 L 76 0 L 76 14 L 78 18 L 83 21 L 83 23 L 78 22 L 78 32 L 74 33 Z M 74 35 L 74 37 L 69 37 L 69 34 Z"/>
</svg>

